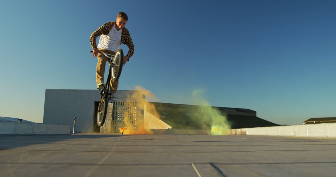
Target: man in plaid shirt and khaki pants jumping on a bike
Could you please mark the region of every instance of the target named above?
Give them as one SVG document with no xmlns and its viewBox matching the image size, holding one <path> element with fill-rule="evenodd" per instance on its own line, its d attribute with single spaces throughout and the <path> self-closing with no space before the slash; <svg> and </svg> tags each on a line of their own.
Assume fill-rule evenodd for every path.
<svg viewBox="0 0 336 177">
<path fill-rule="evenodd" d="M 95 32 L 91 34 L 90 43 L 93 49 L 92 57 L 98 57 L 97 67 L 96 67 L 96 82 L 97 89 L 101 90 L 104 88 L 104 72 L 105 65 L 110 60 L 102 54 L 101 52 L 108 54 L 115 54 L 117 49 L 120 48 L 120 44 L 126 44 L 128 47 L 128 53 L 124 56 L 124 65 L 129 58 L 133 55 L 134 44 L 132 42 L 131 36 L 125 25 L 128 21 L 128 16 L 124 12 L 119 12 L 116 21 L 104 23 Z M 100 36 L 101 35 L 101 36 Z M 96 39 L 100 36 L 98 46 L 96 45 Z M 117 93 L 119 81 L 110 82 L 110 100 L 116 101 L 115 94 Z"/>
</svg>

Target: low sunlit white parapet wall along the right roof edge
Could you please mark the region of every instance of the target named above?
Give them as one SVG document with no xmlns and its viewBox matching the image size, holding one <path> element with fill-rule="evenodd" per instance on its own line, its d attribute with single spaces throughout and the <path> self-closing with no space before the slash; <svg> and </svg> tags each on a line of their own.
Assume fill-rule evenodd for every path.
<svg viewBox="0 0 336 177">
<path fill-rule="evenodd" d="M 336 137 L 336 123 L 230 129 L 231 135 Z"/>
</svg>

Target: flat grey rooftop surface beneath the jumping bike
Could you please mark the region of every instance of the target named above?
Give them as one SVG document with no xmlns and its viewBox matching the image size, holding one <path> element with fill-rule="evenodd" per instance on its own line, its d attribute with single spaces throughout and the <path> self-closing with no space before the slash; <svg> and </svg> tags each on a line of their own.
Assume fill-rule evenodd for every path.
<svg viewBox="0 0 336 177">
<path fill-rule="evenodd" d="M 252 135 L 1 135 L 0 176 L 334 176 L 336 140 Z"/>
</svg>

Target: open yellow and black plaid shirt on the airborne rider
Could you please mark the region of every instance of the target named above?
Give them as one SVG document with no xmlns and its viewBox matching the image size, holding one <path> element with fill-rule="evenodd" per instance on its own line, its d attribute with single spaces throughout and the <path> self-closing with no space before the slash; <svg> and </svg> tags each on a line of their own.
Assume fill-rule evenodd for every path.
<svg viewBox="0 0 336 177">
<path fill-rule="evenodd" d="M 97 37 L 100 36 L 100 35 L 108 35 L 110 33 L 110 30 L 112 29 L 112 27 L 113 27 L 113 25 L 115 23 L 116 23 L 115 21 L 104 23 L 95 32 L 93 32 L 91 34 L 91 36 L 90 36 L 90 43 L 91 43 L 92 49 L 96 49 L 97 48 L 97 44 L 96 44 Z M 128 30 L 125 27 L 122 28 L 121 43 L 127 45 L 127 47 L 128 47 L 128 53 L 127 53 L 126 56 L 128 58 L 131 58 L 131 56 L 134 53 L 134 44 L 132 42 L 132 38 L 129 35 Z"/>
</svg>

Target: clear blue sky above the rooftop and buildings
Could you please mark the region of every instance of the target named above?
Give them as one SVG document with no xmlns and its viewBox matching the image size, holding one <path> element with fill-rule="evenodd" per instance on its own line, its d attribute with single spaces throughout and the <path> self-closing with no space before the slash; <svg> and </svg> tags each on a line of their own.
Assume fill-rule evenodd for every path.
<svg viewBox="0 0 336 177">
<path fill-rule="evenodd" d="M 135 45 L 119 90 L 191 104 L 202 89 L 278 124 L 336 116 L 333 0 L 1 0 L 0 116 L 43 122 L 45 89 L 96 89 L 89 38 L 119 11 Z"/>
</svg>

